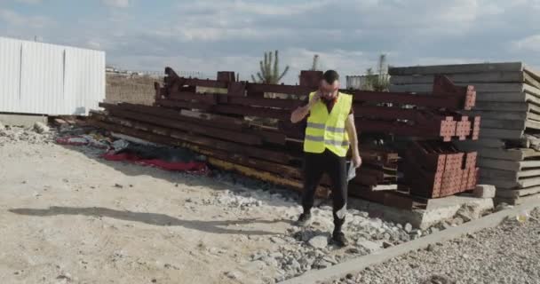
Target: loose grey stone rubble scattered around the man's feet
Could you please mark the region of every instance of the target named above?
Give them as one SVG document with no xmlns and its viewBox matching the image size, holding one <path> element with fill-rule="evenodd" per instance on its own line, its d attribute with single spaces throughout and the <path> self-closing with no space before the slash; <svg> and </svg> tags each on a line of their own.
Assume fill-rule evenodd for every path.
<svg viewBox="0 0 540 284">
<path fill-rule="evenodd" d="M 266 210 L 271 206 L 275 220 L 292 222 L 301 211 L 298 206 L 298 195 L 284 190 L 253 189 L 242 186 L 242 179 L 229 174 L 219 174 L 225 183 L 234 180 L 239 191 L 224 190 L 210 199 L 190 200 L 191 206 L 197 204 L 224 206 L 228 211 L 242 215 L 250 210 Z M 245 179 L 250 181 L 250 179 Z M 466 211 L 466 210 L 465 210 Z M 359 256 L 366 256 L 379 249 L 389 248 L 401 243 L 417 239 L 430 233 L 464 223 L 464 217 L 441 222 L 431 228 L 420 230 L 409 223 L 396 224 L 378 217 L 369 217 L 369 213 L 357 209 L 349 209 L 345 217 L 345 234 L 350 241 L 346 248 L 338 248 L 332 244 L 330 232 L 333 228 L 332 209 L 322 202 L 312 211 L 313 219 L 309 225 L 290 227 L 287 233 L 268 236 L 250 236 L 249 239 L 262 241 L 267 239 L 274 243 L 274 248 L 266 248 L 253 252 L 246 263 L 250 267 L 261 267 L 265 271 L 276 273 L 275 281 L 282 281 L 301 275 L 312 269 L 323 269 L 334 264 L 345 262 Z M 465 214 L 465 213 L 464 213 Z M 468 219 L 466 220 L 468 221 Z M 251 266 L 253 265 L 253 266 Z M 230 272 L 236 275 L 240 272 Z"/>
</svg>

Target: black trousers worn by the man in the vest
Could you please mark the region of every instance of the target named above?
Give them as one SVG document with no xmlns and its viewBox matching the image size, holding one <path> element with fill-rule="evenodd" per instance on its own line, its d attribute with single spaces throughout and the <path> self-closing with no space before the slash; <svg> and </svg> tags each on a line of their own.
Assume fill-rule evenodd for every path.
<svg viewBox="0 0 540 284">
<path fill-rule="evenodd" d="M 304 192 L 302 207 L 308 213 L 314 206 L 315 189 L 321 181 L 322 174 L 330 177 L 333 199 L 334 230 L 341 231 L 345 222 L 347 202 L 347 169 L 345 157 L 340 157 L 325 149 L 321 154 L 305 153 L 304 160 Z"/>
</svg>

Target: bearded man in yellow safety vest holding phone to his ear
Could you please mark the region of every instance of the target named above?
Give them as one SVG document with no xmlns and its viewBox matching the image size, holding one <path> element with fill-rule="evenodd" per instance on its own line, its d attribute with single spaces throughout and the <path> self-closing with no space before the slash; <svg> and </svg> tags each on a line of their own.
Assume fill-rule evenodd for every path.
<svg viewBox="0 0 540 284">
<path fill-rule="evenodd" d="M 351 146 L 354 167 L 361 165 L 358 138 L 354 127 L 353 96 L 339 92 L 339 75 L 334 70 L 324 73 L 318 91 L 309 94 L 306 106 L 298 107 L 290 121 L 300 122 L 307 117 L 304 138 L 304 212 L 298 225 L 306 225 L 314 206 L 314 193 L 322 174 L 330 177 L 333 196 L 334 232 L 332 240 L 340 247 L 347 245 L 341 227 L 345 223 L 347 200 L 347 169 L 345 156 Z"/>
</svg>

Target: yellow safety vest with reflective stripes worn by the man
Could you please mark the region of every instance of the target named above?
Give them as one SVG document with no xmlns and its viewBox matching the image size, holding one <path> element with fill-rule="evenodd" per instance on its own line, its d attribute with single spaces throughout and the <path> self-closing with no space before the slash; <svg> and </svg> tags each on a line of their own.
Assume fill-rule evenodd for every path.
<svg viewBox="0 0 540 284">
<path fill-rule="evenodd" d="M 309 94 L 311 100 L 315 92 Z M 345 131 L 345 120 L 350 114 L 353 96 L 338 94 L 338 101 L 330 114 L 322 101 L 318 101 L 307 118 L 304 152 L 322 153 L 329 149 L 340 157 L 345 157 L 349 149 L 349 137 Z"/>
</svg>

